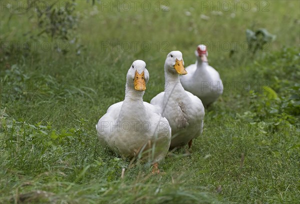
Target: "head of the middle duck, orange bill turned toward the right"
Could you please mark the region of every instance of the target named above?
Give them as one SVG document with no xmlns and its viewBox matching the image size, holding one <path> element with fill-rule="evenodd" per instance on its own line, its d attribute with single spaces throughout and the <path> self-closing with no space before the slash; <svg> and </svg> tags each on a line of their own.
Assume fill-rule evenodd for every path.
<svg viewBox="0 0 300 204">
<path fill-rule="evenodd" d="M 187 74 L 184 69 L 182 53 L 180 51 L 172 51 L 167 54 L 164 62 L 164 70 L 170 73 Z"/>
</svg>

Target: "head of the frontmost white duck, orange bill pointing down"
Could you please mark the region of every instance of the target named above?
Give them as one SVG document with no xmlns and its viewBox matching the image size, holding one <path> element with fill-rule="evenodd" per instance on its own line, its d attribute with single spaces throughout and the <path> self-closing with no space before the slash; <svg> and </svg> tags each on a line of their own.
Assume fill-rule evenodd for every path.
<svg viewBox="0 0 300 204">
<path fill-rule="evenodd" d="M 146 90 L 146 84 L 149 80 L 146 63 L 142 60 L 135 60 L 127 72 L 126 79 L 130 87 L 134 87 L 136 91 Z"/>
</svg>

